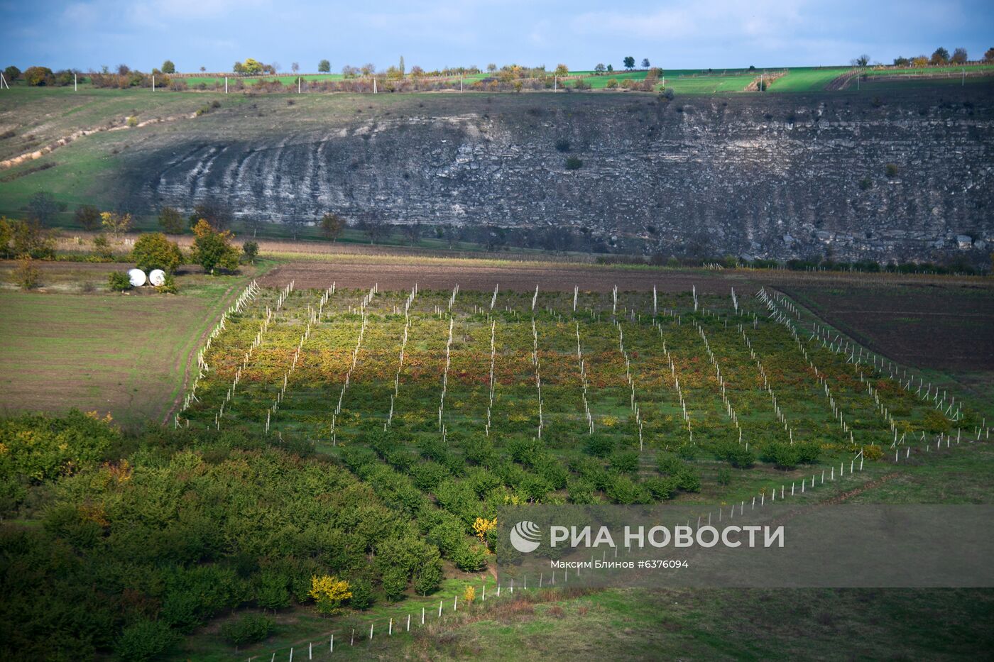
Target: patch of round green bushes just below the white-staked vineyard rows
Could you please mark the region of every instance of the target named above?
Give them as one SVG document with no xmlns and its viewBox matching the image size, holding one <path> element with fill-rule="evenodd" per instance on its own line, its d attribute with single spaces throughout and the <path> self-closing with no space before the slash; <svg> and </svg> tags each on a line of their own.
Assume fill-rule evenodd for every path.
<svg viewBox="0 0 994 662">
<path fill-rule="evenodd" d="M 653 503 L 680 492 L 700 491 L 701 475 L 690 460 L 704 452 L 737 468 L 748 468 L 757 459 L 752 449 L 736 442 L 706 447 L 687 444 L 677 453 L 658 455 L 658 475 L 639 478 L 639 451 L 618 448 L 605 434 L 591 435 L 585 452 L 555 455 L 532 438 L 513 437 L 498 449 L 483 434 L 456 431 L 445 443 L 396 429 L 361 432 L 355 440 L 358 443 L 343 451 L 345 464 L 373 484 L 382 498 L 421 522 L 438 517 L 432 506 L 440 506 L 461 522 L 464 533 L 473 532 L 477 518 L 492 518 L 507 503 L 589 504 L 605 499 L 619 504 Z M 819 453 L 820 446 L 814 442 L 768 442 L 760 447 L 758 459 L 790 469 L 817 461 Z M 730 480 L 728 469 L 719 471 L 720 483 Z M 433 495 L 434 501 L 425 494 Z M 458 558 L 457 565 L 475 566 L 478 557 L 470 551 L 456 551 L 459 540 L 457 536 L 450 539 L 451 547 L 435 542 L 443 554 Z"/>
</svg>

